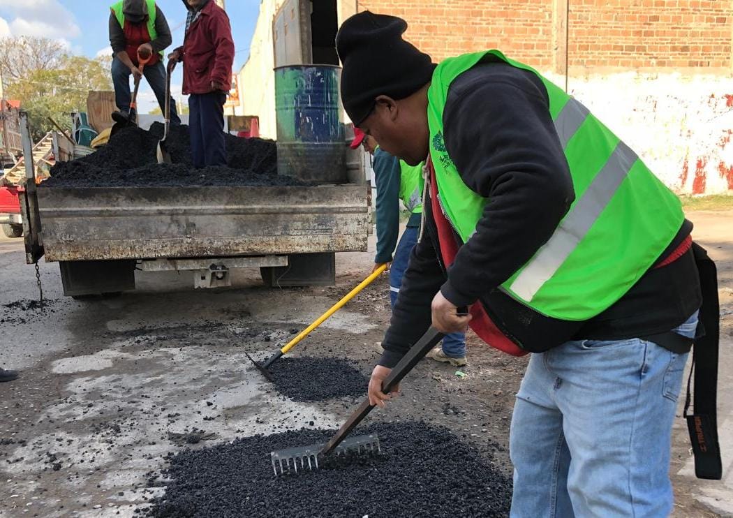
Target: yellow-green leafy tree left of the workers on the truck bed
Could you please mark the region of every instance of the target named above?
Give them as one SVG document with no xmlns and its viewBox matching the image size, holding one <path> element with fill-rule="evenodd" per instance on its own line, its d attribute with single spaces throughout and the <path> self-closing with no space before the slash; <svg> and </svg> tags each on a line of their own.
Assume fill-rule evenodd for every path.
<svg viewBox="0 0 733 518">
<path fill-rule="evenodd" d="M 11 81 L 7 95 L 20 99 L 21 106 L 28 111 L 35 141 L 54 129 L 48 117 L 70 130 L 70 113 L 86 111 L 89 90 L 110 89 L 112 80 L 104 59 L 63 56 L 53 69 L 27 70 L 26 75 Z"/>
</svg>

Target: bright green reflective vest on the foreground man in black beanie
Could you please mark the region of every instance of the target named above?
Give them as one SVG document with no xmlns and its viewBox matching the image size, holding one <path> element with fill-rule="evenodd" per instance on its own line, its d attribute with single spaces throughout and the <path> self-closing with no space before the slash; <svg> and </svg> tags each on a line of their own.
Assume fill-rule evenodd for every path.
<svg viewBox="0 0 733 518">
<path fill-rule="evenodd" d="M 438 65 L 427 94 L 438 201 L 463 243 L 489 200 L 463 183 L 446 152 L 443 108 L 452 81 L 488 54 L 545 84 L 575 190 L 550 240 L 499 289 L 547 317 L 590 319 L 619 300 L 671 243 L 685 218 L 682 204 L 585 106 L 536 70 L 496 50 L 465 54 Z"/>
</svg>

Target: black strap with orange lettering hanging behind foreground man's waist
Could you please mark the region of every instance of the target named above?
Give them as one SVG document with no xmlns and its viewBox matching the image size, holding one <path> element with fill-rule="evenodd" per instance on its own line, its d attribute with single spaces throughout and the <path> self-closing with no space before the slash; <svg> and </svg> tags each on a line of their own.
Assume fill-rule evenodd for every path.
<svg viewBox="0 0 733 518">
<path fill-rule="evenodd" d="M 693 254 L 700 273 L 702 306 L 699 314 L 698 338 L 692 353 L 685 411 L 690 441 L 695 455 L 697 478 L 720 480 L 723 476 L 721 448 L 718 445 L 718 346 L 720 307 L 718 305 L 718 273 L 707 251 L 693 243 Z M 690 385 L 694 374 L 693 413 L 690 408 Z"/>
</svg>

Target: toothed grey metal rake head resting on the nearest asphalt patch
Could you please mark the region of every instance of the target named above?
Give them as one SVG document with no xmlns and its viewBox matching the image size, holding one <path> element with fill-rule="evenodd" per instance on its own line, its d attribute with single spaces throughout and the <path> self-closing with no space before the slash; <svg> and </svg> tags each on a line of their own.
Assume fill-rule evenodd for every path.
<svg viewBox="0 0 733 518">
<path fill-rule="evenodd" d="M 273 463 L 273 471 L 275 476 L 281 476 L 288 473 L 298 473 L 298 470 L 305 471 L 318 469 L 318 460 L 323 462 L 323 448 L 326 443 L 312 444 L 310 446 L 300 446 L 297 448 L 284 448 L 282 450 L 273 451 L 270 459 Z M 358 435 L 345 439 L 341 444 L 336 446 L 328 455 L 347 456 L 353 454 L 379 454 L 381 453 L 379 446 L 379 437 L 376 434 Z"/>
</svg>

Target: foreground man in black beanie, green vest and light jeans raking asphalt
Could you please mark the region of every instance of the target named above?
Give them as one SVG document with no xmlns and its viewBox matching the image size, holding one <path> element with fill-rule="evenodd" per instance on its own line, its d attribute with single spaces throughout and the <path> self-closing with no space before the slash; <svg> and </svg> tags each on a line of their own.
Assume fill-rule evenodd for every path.
<svg viewBox="0 0 733 518">
<path fill-rule="evenodd" d="M 668 516 L 672 419 L 710 281 L 679 199 L 531 68 L 499 51 L 436 65 L 406 29 L 361 12 L 336 37 L 350 119 L 430 170 L 370 402 L 388 401 L 383 380 L 431 323 L 470 324 L 532 353 L 509 438 L 513 517 Z"/>
</svg>

